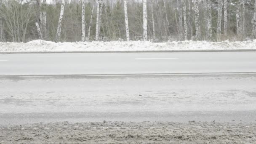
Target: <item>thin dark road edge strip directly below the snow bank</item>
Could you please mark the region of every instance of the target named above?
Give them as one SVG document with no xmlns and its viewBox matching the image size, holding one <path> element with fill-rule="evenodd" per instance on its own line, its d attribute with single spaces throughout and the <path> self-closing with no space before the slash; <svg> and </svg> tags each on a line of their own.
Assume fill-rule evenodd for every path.
<svg viewBox="0 0 256 144">
<path fill-rule="evenodd" d="M 256 49 L 239 50 L 178 50 L 178 51 L 37 51 L 37 52 L 0 52 L 0 54 L 23 54 L 23 53 L 194 53 L 194 52 L 255 52 Z"/>
</svg>

